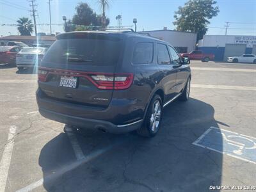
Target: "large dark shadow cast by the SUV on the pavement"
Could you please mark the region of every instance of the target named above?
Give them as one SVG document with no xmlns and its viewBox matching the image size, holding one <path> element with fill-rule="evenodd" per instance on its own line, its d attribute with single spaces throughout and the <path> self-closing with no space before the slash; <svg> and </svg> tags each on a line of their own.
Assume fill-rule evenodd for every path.
<svg viewBox="0 0 256 192">
<path fill-rule="evenodd" d="M 68 132 L 61 133 L 40 153 L 44 188 L 47 191 L 209 191 L 210 186 L 221 186 L 222 154 L 192 143 L 211 126 L 218 127 L 214 108 L 189 99 L 185 103 L 173 102 L 164 109 L 161 130 L 152 139 L 136 134 L 73 131 L 85 156 L 81 160 L 76 159 Z M 218 141 L 222 141 L 221 134 Z M 112 147 L 104 150 L 109 146 Z"/>
</svg>

